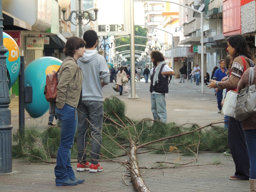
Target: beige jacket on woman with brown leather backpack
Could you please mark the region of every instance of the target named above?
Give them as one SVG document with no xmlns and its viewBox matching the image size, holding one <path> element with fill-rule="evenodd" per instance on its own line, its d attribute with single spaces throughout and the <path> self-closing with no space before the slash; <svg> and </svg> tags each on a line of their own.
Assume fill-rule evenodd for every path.
<svg viewBox="0 0 256 192">
<path fill-rule="evenodd" d="M 77 65 L 77 61 L 73 57 L 67 56 L 62 62 L 58 74 L 58 81 L 57 107 L 62 109 L 65 103 L 67 103 L 77 108 L 82 89 L 83 76 L 80 67 Z"/>
</svg>

